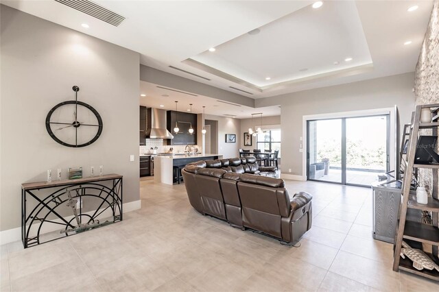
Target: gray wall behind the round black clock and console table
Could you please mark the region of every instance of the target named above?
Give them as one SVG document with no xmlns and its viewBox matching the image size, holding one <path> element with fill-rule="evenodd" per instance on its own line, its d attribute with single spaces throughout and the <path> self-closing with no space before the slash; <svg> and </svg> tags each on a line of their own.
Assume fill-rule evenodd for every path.
<svg viewBox="0 0 439 292">
<path fill-rule="evenodd" d="M 139 200 L 139 54 L 1 5 L 0 230 L 21 226 L 23 182 L 44 181 L 47 169 L 90 166 L 123 175 L 123 201 Z M 69 148 L 45 129 L 47 112 L 79 100 L 102 115 L 92 145 Z M 129 161 L 135 154 L 135 162 Z"/>
</svg>

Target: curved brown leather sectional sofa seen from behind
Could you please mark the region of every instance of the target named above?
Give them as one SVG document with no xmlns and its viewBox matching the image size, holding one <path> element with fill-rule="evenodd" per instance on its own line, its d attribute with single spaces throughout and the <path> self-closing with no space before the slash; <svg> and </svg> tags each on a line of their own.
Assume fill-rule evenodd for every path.
<svg viewBox="0 0 439 292">
<path fill-rule="evenodd" d="M 203 215 L 294 245 L 311 228 L 312 196 L 301 192 L 289 197 L 285 182 L 270 177 L 278 175 L 277 169 L 256 168 L 253 158 L 186 165 L 182 175 L 189 202 Z"/>
</svg>

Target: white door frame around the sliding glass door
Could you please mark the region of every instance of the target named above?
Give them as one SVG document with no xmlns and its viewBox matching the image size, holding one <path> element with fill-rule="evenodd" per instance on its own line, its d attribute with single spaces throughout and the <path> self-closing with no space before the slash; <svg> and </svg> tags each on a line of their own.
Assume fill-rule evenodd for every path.
<svg viewBox="0 0 439 292">
<path fill-rule="evenodd" d="M 368 117 L 377 115 L 389 115 L 390 128 L 389 136 L 390 141 L 388 143 L 388 154 L 390 156 L 389 168 L 390 170 L 396 169 L 398 162 L 398 136 L 397 136 L 397 111 L 396 105 L 393 108 L 377 108 L 372 110 L 355 110 L 351 112 L 334 112 L 328 114 L 309 114 L 302 117 L 302 180 L 308 180 L 307 172 L 307 149 L 308 149 L 308 131 L 307 125 L 308 121 L 315 120 L 325 120 L 325 119 L 342 119 L 342 118 L 353 118 L 353 117 Z"/>
</svg>

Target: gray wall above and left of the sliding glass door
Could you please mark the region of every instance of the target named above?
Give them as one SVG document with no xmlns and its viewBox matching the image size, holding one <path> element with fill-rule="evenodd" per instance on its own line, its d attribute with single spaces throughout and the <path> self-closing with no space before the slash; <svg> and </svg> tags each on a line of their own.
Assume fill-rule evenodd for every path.
<svg viewBox="0 0 439 292">
<path fill-rule="evenodd" d="M 302 117 L 309 114 L 347 112 L 398 106 L 401 123 L 409 123 L 414 110 L 414 73 L 317 88 L 257 99 L 255 105 L 281 108 L 282 169 L 293 175 L 302 173 Z"/>
</svg>

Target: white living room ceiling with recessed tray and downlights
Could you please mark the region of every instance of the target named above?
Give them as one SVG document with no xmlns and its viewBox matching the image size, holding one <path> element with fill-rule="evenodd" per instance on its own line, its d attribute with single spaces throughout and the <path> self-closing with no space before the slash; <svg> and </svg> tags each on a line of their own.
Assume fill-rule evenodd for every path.
<svg viewBox="0 0 439 292">
<path fill-rule="evenodd" d="M 95 1 L 125 17 L 115 27 L 54 0 L 1 3 L 252 98 L 414 71 L 432 8 L 430 0 L 327 0 L 318 9 L 313 1 Z M 418 10 L 407 12 L 412 5 Z"/>
</svg>

